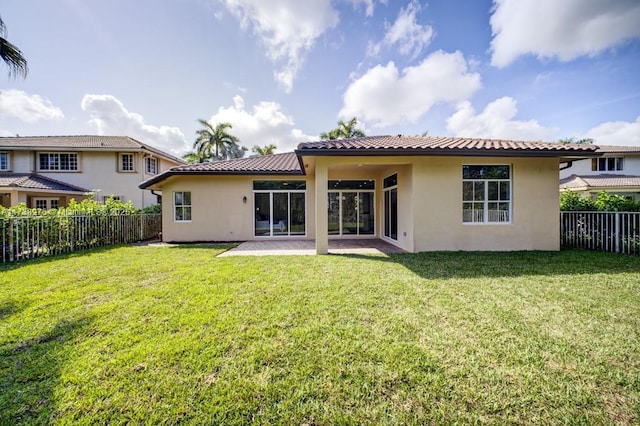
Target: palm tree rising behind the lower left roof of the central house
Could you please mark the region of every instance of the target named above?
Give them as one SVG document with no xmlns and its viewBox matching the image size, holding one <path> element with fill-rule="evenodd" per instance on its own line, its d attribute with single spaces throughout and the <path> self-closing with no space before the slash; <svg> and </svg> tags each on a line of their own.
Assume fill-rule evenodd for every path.
<svg viewBox="0 0 640 426">
<path fill-rule="evenodd" d="M 198 119 L 198 122 L 204 127 L 196 131 L 198 137 L 193 143 L 196 154 L 194 159 L 198 162 L 228 160 L 244 156 L 247 148 L 238 145 L 240 139 L 227 132 L 227 129 L 233 127 L 231 123 L 219 123 L 213 126 L 207 120 Z"/>
</svg>

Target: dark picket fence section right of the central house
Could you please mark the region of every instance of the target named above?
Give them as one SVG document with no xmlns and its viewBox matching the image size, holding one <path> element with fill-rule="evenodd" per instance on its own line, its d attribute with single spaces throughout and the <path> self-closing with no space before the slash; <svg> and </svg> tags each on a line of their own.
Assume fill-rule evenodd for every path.
<svg viewBox="0 0 640 426">
<path fill-rule="evenodd" d="M 640 213 L 561 212 L 560 244 L 640 255 Z"/>
</svg>

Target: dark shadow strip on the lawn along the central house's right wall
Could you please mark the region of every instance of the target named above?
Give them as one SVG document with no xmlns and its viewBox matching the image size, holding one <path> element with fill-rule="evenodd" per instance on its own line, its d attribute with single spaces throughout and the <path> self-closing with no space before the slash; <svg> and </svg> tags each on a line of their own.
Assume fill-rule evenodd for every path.
<svg viewBox="0 0 640 426">
<path fill-rule="evenodd" d="M 385 256 L 337 256 L 399 264 L 426 279 L 640 273 L 640 258 L 637 256 L 579 249 L 546 252 L 423 252 L 391 253 Z"/>
</svg>

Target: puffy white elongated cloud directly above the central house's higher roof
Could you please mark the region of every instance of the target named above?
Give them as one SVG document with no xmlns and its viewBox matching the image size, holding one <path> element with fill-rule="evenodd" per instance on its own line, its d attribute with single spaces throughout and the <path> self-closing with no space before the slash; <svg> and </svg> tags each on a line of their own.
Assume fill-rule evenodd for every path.
<svg viewBox="0 0 640 426">
<path fill-rule="evenodd" d="M 375 127 L 415 123 L 437 103 L 468 99 L 481 86 L 460 52 L 437 51 L 399 72 L 393 62 L 354 80 L 343 95 L 342 118 L 358 117 Z"/>
</svg>

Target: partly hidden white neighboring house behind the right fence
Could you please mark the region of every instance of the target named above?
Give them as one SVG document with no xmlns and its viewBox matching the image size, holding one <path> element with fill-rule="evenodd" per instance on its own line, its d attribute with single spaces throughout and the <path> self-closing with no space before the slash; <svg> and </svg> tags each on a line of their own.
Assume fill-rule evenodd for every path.
<svg viewBox="0 0 640 426">
<path fill-rule="evenodd" d="M 600 145 L 599 158 L 574 161 L 560 171 L 560 191 L 595 198 L 600 191 L 640 201 L 640 146 Z"/>
</svg>

